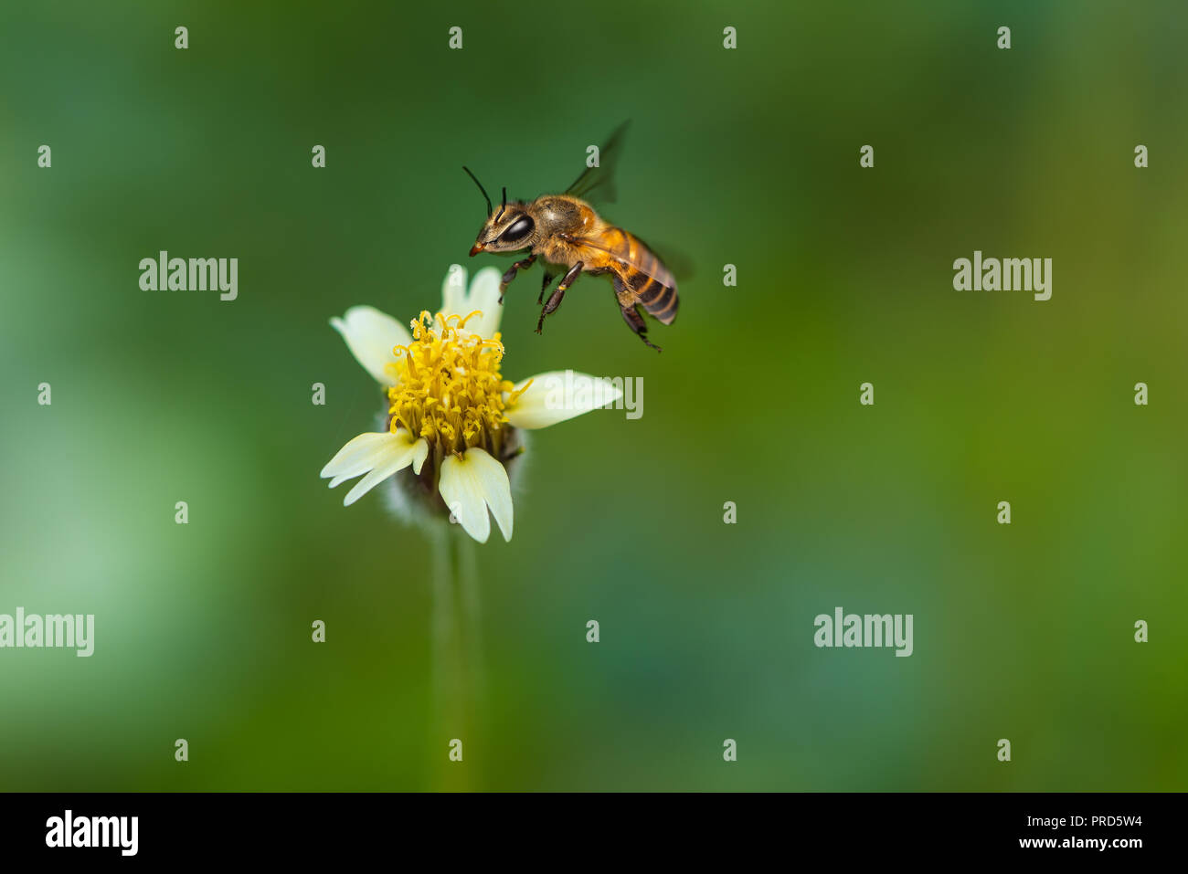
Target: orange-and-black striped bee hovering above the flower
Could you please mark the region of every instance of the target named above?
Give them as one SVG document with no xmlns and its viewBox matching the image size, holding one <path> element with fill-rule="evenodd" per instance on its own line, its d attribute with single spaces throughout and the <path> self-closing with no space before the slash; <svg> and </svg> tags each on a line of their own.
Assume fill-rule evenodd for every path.
<svg viewBox="0 0 1188 874">
<path fill-rule="evenodd" d="M 487 220 L 475 238 L 470 256 L 480 252 L 507 254 L 527 251 L 526 258 L 516 261 L 504 273 L 499 303 L 503 303 L 504 292 L 517 272 L 531 267 L 537 258 L 544 261 L 544 281 L 536 300 L 544 309 L 536 323 L 537 334 L 543 330 L 545 317 L 561 306 L 565 292 L 579 276 L 609 274 L 624 321 L 636 336 L 659 352 L 661 348 L 647 340 L 647 325 L 639 308 L 662 324 L 672 324 L 680 303 L 676 279 L 646 243 L 604 220 L 590 205 L 595 195 L 602 202 L 614 200 L 614 165 L 626 127 L 626 122 L 620 125 L 602 146 L 599 166 L 583 170 L 563 194 L 542 195 L 531 202 L 508 202 L 505 188 L 498 213 L 492 208 L 482 183 L 468 167 L 462 167 L 487 202 Z M 544 293 L 555 273 L 562 272 L 561 281 L 545 300 Z"/>
</svg>

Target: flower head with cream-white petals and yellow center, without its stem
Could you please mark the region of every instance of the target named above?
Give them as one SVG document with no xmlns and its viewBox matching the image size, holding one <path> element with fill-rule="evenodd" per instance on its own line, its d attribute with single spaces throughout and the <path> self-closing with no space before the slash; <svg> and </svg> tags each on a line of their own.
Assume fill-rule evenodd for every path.
<svg viewBox="0 0 1188 874">
<path fill-rule="evenodd" d="M 524 450 L 519 430 L 571 419 L 623 392 L 586 374 L 567 378 L 564 370 L 505 380 L 501 310 L 498 270 L 479 271 L 467 291 L 466 271 L 454 265 L 441 311 L 417 316 L 411 334 L 371 306 L 352 306 L 330 319 L 387 401 L 384 430 L 359 435 L 322 468 L 330 488 L 362 476 L 345 505 L 396 477 L 425 509 L 453 515 L 479 543 L 491 534 L 488 511 L 504 539 L 512 539 L 507 471 Z"/>
</svg>

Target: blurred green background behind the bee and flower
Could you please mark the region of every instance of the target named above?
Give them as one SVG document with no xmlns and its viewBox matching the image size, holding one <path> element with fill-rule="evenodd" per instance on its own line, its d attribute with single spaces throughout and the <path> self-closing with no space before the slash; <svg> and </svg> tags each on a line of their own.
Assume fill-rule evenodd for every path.
<svg viewBox="0 0 1188 874">
<path fill-rule="evenodd" d="M 820 6 L 4 4 L 0 613 L 96 642 L 0 651 L 0 788 L 1184 788 L 1188 10 Z M 328 319 L 506 266 L 460 166 L 557 190 L 625 118 L 605 214 L 697 271 L 662 355 L 605 278 L 542 336 L 512 286 L 506 375 L 644 416 L 535 435 L 447 772 L 430 551 L 318 479 L 378 412 Z M 239 299 L 141 291 L 159 249 Z M 974 249 L 1051 299 L 954 291 Z M 915 654 L 817 650 L 836 606 Z"/>
</svg>

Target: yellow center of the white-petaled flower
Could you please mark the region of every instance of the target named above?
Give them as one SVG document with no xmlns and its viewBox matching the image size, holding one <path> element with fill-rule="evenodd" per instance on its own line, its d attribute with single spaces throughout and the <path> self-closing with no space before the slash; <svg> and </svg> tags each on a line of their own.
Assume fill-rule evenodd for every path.
<svg viewBox="0 0 1188 874">
<path fill-rule="evenodd" d="M 397 384 L 387 390 L 390 429 L 424 437 L 434 455 L 480 446 L 499 458 L 505 407 L 519 393 L 499 373 L 504 344 L 499 334 L 484 340 L 465 330 L 466 318 L 423 311 L 412 322 L 412 342 L 398 346 L 388 365 Z M 526 386 L 525 386 L 526 388 Z M 512 393 L 504 400 L 504 393 Z"/>
</svg>

